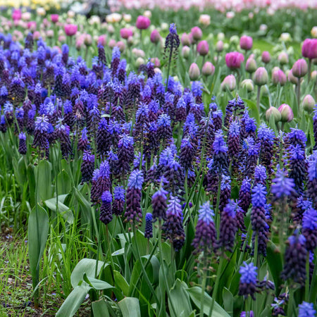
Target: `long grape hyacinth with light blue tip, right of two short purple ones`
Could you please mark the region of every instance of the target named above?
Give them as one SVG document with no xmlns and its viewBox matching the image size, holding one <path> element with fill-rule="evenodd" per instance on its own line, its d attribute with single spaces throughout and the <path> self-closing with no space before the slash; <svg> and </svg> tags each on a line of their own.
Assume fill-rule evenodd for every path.
<svg viewBox="0 0 317 317">
<path fill-rule="evenodd" d="M 143 185 L 142 170 L 132 170 L 126 194 L 127 207 L 125 209 L 125 221 L 134 224 L 136 227 L 142 223 L 142 185 Z"/>
</svg>

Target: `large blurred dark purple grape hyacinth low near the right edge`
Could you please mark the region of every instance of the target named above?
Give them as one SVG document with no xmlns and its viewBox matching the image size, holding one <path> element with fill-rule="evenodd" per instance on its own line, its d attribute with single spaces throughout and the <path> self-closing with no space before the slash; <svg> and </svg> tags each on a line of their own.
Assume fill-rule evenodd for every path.
<svg viewBox="0 0 317 317">
<path fill-rule="evenodd" d="M 306 239 L 295 230 L 288 238 L 288 247 L 285 251 L 285 265 L 280 274 L 283 280 L 292 279 L 304 285 L 306 280 Z"/>
</svg>

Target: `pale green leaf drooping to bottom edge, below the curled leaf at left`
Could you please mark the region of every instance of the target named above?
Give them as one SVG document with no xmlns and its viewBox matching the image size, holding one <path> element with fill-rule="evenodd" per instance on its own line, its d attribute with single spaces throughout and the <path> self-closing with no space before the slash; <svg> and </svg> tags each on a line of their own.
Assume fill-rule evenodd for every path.
<svg viewBox="0 0 317 317">
<path fill-rule="evenodd" d="M 63 302 L 60 309 L 56 313 L 56 317 L 72 317 L 76 311 L 80 308 L 86 295 L 88 294 L 91 287 L 87 285 L 77 285 L 73 291 L 68 295 L 65 302 Z"/>
</svg>

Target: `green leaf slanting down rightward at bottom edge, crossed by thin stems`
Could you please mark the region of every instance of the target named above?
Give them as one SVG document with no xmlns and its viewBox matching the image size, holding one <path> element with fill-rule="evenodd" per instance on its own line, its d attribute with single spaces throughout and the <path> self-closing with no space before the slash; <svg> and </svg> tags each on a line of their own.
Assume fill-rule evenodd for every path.
<svg viewBox="0 0 317 317">
<path fill-rule="evenodd" d="M 194 286 L 192 288 L 187 289 L 187 292 L 189 293 L 189 297 L 192 299 L 192 302 L 197 306 L 197 308 L 200 308 L 201 306 L 201 287 Z M 212 299 L 205 292 L 204 294 L 204 313 L 206 315 L 209 315 L 209 310 L 211 307 Z M 211 317 L 229 317 L 230 315 L 223 309 L 217 302 L 213 305 L 213 313 Z"/>
</svg>

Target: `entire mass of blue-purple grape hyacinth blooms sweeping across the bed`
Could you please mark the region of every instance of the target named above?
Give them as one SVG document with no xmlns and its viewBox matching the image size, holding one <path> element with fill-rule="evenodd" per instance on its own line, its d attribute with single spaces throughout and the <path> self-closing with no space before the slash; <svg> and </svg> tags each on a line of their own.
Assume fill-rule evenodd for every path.
<svg viewBox="0 0 317 317">
<path fill-rule="evenodd" d="M 232 251 L 239 240 L 235 237 L 244 235 L 251 207 L 251 252 L 257 240 L 259 254 L 266 256 L 269 203 L 275 209 L 284 199 L 298 216 L 301 232 L 288 240 L 282 278 L 303 282 L 306 252 L 316 248 L 317 152 L 308 156 L 302 130 L 291 129 L 280 139 L 266 125 L 256 130 L 256 120 L 240 97 L 228 102 L 225 116 L 215 100 L 207 113 L 201 82 L 191 87 L 182 87 L 173 77 L 164 82 L 151 62 L 139 73 L 127 73 L 118 48 L 107 61 L 99 45 L 88 68 L 82 57 L 69 56 L 66 44 L 59 53 L 42 39 L 35 49 L 32 35 L 24 49 L 4 35 L 0 38 L 0 131 L 11 129 L 17 135 L 21 155 L 33 147 L 40 159 L 49 159 L 56 146 L 64 159 L 80 154 L 82 182 L 91 186 L 90 199 L 103 223 L 113 215 L 135 226 L 145 219 L 145 236 L 151 239 L 151 223 L 159 220 L 163 237 L 179 251 L 185 243 L 183 213 L 185 218 L 191 208 L 185 183 L 190 190 L 195 180 L 203 179 L 209 203 L 199 209 L 194 253 Z M 178 46 L 171 25 L 166 53 L 175 56 Z M 282 156 L 276 150 L 281 142 Z M 275 173 L 276 162 L 283 169 Z M 142 208 L 145 188 L 151 190 L 152 213 L 147 216 Z M 237 201 L 230 201 L 232 188 L 238 189 Z M 299 208 L 301 197 L 307 208 Z M 218 239 L 215 213 L 220 213 Z M 292 224 L 295 218 L 287 221 Z M 295 262 L 294 252 L 303 260 Z M 254 279 L 242 284 L 242 294 L 254 294 Z"/>
</svg>

